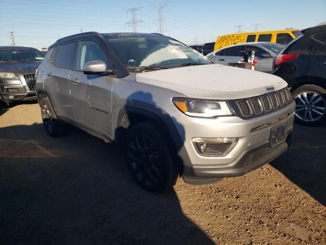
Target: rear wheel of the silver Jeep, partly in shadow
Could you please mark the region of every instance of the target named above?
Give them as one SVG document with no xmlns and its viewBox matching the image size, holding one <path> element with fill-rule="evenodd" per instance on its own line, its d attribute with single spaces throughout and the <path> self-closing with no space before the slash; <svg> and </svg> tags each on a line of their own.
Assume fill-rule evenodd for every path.
<svg viewBox="0 0 326 245">
<path fill-rule="evenodd" d="M 56 113 L 48 97 L 44 97 L 40 103 L 43 126 L 45 131 L 51 137 L 59 137 L 67 133 L 64 122 L 57 119 Z"/>
</svg>

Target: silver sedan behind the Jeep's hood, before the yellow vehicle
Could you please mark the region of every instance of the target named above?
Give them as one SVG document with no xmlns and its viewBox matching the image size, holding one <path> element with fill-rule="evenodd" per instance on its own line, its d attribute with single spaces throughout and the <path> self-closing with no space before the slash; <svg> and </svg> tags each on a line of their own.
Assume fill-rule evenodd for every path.
<svg viewBox="0 0 326 245">
<path fill-rule="evenodd" d="M 237 63 L 243 59 L 244 53 L 255 51 L 255 57 L 259 60 L 255 70 L 271 73 L 273 71 L 273 59 L 284 48 L 282 44 L 273 42 L 247 42 L 234 44 L 209 53 L 206 57 L 216 64 L 228 65 Z"/>
</svg>

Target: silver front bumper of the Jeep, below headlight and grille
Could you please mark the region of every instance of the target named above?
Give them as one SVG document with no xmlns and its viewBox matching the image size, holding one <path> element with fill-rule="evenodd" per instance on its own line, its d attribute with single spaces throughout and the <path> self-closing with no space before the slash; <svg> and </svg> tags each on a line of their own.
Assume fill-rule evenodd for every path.
<svg viewBox="0 0 326 245">
<path fill-rule="evenodd" d="M 295 103 L 260 117 L 241 119 L 237 116 L 195 118 L 180 114 L 174 106 L 168 112 L 173 116 L 184 149 L 182 177 L 187 183 L 213 183 L 224 177 L 241 176 L 275 159 L 289 147 L 293 128 Z M 269 147 L 270 130 L 285 125 L 287 138 Z M 192 142 L 194 137 L 238 138 L 237 144 L 226 156 L 202 156 Z"/>
</svg>

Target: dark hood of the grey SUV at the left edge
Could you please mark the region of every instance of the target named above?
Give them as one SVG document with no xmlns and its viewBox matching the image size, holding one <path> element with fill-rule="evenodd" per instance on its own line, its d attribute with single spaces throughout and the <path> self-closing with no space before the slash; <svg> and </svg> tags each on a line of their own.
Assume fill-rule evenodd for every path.
<svg viewBox="0 0 326 245">
<path fill-rule="evenodd" d="M 15 74 L 35 73 L 41 62 L 8 62 L 0 63 L 0 72 L 14 72 Z"/>
</svg>

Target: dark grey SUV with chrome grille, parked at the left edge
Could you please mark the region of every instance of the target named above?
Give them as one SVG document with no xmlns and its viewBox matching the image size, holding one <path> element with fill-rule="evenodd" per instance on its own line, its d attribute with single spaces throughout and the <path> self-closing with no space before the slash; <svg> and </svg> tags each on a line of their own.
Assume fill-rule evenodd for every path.
<svg viewBox="0 0 326 245">
<path fill-rule="evenodd" d="M 35 74 L 44 55 L 33 47 L 0 46 L 0 103 L 36 100 Z"/>
</svg>

